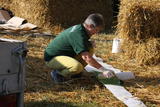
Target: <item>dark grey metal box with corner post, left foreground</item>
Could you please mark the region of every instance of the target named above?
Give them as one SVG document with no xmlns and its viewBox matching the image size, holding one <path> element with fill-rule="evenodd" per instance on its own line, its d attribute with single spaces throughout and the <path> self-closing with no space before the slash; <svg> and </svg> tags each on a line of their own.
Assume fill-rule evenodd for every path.
<svg viewBox="0 0 160 107">
<path fill-rule="evenodd" d="M 16 94 L 24 107 L 26 43 L 0 38 L 0 95 Z"/>
</svg>

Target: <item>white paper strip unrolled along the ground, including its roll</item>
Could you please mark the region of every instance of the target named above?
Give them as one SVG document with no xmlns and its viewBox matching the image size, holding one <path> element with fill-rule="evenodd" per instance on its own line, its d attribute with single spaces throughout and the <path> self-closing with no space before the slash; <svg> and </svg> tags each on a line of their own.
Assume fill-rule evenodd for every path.
<svg viewBox="0 0 160 107">
<path fill-rule="evenodd" d="M 116 69 L 112 67 L 112 65 L 108 65 L 106 63 L 103 63 L 103 60 L 101 58 L 96 57 L 95 55 L 93 56 L 103 67 L 106 69 L 110 69 L 114 71 L 117 77 L 121 79 L 133 79 L 134 74 L 132 72 L 129 73 L 123 73 L 121 70 Z M 88 72 L 93 72 L 93 71 L 99 71 L 98 69 L 87 65 L 85 69 Z M 128 92 L 123 86 L 117 86 L 117 85 L 109 85 L 109 84 L 104 84 L 104 86 L 120 101 L 122 101 L 124 104 L 126 104 L 128 107 L 146 107 L 142 101 L 140 101 L 138 98 L 132 96 L 130 92 Z"/>
</svg>

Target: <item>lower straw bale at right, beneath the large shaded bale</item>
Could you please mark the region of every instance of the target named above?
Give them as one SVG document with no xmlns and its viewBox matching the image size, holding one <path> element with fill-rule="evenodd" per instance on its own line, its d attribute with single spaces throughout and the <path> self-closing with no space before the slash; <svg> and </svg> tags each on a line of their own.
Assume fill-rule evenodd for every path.
<svg viewBox="0 0 160 107">
<path fill-rule="evenodd" d="M 122 48 L 125 59 L 130 59 L 137 65 L 156 65 L 160 62 L 160 38 L 150 38 L 146 42 L 136 44 L 126 41 Z"/>
</svg>

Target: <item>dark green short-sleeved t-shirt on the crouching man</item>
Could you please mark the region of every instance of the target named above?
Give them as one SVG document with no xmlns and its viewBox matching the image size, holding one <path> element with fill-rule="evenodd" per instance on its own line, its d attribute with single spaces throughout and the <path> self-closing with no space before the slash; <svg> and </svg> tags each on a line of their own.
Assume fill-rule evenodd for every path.
<svg viewBox="0 0 160 107">
<path fill-rule="evenodd" d="M 89 36 L 82 24 L 72 26 L 60 33 L 47 46 L 44 54 L 45 61 L 50 61 L 55 56 L 70 56 L 89 51 L 91 43 Z"/>
</svg>

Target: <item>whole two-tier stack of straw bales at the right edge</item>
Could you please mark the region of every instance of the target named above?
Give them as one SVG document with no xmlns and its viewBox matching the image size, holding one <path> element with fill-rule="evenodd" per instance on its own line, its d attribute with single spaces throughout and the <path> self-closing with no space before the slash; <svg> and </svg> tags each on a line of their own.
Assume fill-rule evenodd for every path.
<svg viewBox="0 0 160 107">
<path fill-rule="evenodd" d="M 122 0 L 117 25 L 123 58 L 139 65 L 160 62 L 160 1 Z"/>
</svg>

